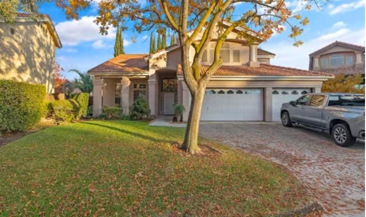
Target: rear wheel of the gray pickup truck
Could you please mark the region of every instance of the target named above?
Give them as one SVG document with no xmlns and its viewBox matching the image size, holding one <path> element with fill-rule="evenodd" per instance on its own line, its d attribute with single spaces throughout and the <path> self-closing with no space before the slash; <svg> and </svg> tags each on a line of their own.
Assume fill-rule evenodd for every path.
<svg viewBox="0 0 366 217">
<path fill-rule="evenodd" d="M 335 144 L 342 147 L 349 147 L 356 142 L 346 124 L 336 124 L 332 129 L 332 137 Z"/>
</svg>

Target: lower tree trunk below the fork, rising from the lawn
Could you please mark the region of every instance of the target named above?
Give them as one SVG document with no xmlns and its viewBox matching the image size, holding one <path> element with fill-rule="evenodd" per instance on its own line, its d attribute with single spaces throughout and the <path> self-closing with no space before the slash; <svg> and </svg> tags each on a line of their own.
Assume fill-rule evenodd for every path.
<svg viewBox="0 0 366 217">
<path fill-rule="evenodd" d="M 191 107 L 183 142 L 183 149 L 191 154 L 201 152 L 201 149 L 198 147 L 198 130 L 205 89 L 206 85 L 200 85 L 196 93 L 191 93 Z"/>
</svg>

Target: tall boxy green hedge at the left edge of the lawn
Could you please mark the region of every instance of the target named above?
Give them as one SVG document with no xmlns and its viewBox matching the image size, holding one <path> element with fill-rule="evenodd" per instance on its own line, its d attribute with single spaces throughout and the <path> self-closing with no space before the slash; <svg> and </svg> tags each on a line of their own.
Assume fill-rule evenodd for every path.
<svg viewBox="0 0 366 217">
<path fill-rule="evenodd" d="M 0 79 L 0 132 L 25 131 L 45 114 L 46 87 Z"/>
</svg>

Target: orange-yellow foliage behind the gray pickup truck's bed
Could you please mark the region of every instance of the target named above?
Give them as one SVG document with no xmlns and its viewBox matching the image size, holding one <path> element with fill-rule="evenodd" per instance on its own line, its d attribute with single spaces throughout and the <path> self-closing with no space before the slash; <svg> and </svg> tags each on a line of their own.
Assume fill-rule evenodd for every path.
<svg viewBox="0 0 366 217">
<path fill-rule="evenodd" d="M 332 79 L 324 81 L 321 92 L 324 93 L 365 93 L 365 86 L 360 88 L 360 84 L 364 83 L 361 74 L 357 75 L 337 75 Z"/>
</svg>

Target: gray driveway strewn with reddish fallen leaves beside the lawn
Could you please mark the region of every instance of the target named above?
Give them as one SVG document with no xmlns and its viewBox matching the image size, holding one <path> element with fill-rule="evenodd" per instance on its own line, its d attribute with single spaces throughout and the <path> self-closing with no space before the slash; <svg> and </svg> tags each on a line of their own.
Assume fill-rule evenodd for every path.
<svg viewBox="0 0 366 217">
<path fill-rule="evenodd" d="M 342 148 L 326 133 L 262 122 L 203 122 L 200 134 L 285 166 L 325 216 L 365 216 L 364 141 Z"/>
</svg>

